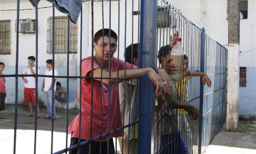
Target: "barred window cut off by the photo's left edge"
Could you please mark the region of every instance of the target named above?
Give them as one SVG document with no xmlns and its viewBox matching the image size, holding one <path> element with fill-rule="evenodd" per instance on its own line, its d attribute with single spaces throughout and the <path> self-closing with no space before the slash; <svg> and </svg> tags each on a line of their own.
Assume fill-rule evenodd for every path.
<svg viewBox="0 0 256 154">
<path fill-rule="evenodd" d="M 0 21 L 0 54 L 10 54 L 10 20 Z"/>
</svg>

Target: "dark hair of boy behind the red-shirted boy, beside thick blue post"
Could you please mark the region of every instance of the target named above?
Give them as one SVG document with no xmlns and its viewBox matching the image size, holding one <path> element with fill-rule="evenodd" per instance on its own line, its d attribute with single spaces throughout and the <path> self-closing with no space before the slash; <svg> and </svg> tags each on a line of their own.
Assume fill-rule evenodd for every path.
<svg viewBox="0 0 256 154">
<path fill-rule="evenodd" d="M 126 49 L 125 49 L 125 61 L 132 64 L 133 58 L 137 58 L 138 57 L 138 47 L 139 44 L 131 44 L 129 45 Z M 133 50 L 133 52 L 132 52 Z M 133 53 L 133 54 L 132 54 Z M 133 56 L 133 57 L 132 57 Z"/>
</svg>

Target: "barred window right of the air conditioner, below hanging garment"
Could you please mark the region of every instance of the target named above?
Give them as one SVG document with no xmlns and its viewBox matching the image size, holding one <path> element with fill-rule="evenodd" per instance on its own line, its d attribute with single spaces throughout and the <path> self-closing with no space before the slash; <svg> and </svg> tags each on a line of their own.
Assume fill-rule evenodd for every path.
<svg viewBox="0 0 256 154">
<path fill-rule="evenodd" d="M 69 51 L 77 53 L 77 24 L 70 22 Z M 68 16 L 55 17 L 55 53 L 67 53 L 68 50 Z M 52 54 L 52 17 L 48 19 L 47 53 Z"/>
</svg>

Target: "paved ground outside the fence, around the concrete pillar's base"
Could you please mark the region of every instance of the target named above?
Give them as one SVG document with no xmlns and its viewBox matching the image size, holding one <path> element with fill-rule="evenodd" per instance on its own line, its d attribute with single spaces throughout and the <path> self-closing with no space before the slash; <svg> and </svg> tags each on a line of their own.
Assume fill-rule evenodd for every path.
<svg viewBox="0 0 256 154">
<path fill-rule="evenodd" d="M 205 154 L 256 154 L 256 118 L 239 121 L 236 132 L 225 128 L 214 137 Z"/>
</svg>

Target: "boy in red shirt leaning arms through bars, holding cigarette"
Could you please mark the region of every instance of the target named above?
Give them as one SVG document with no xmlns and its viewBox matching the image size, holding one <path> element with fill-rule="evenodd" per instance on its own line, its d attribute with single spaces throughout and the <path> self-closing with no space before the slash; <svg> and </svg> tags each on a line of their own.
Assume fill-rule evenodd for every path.
<svg viewBox="0 0 256 154">
<path fill-rule="evenodd" d="M 111 33 L 111 35 L 109 35 Z M 111 39 L 110 39 L 111 36 Z M 104 37 L 104 41 L 103 41 Z M 149 79 L 156 86 L 156 93 L 161 93 L 163 90 L 163 82 L 161 77 L 152 68 L 136 69 L 133 65 L 123 62 L 123 60 L 113 57 L 117 50 L 117 34 L 110 29 L 101 29 L 94 35 L 94 51 L 95 56 L 86 57 L 81 62 L 81 76 L 93 77 L 91 87 L 91 79 L 83 78 L 81 83 L 81 141 L 90 140 L 91 138 L 100 136 L 101 134 L 114 131 L 115 128 L 122 127 L 120 114 L 120 104 L 117 83 L 122 82 L 124 78 L 135 79 L 144 75 L 149 75 Z M 110 45 L 110 46 L 109 46 Z M 93 61 L 93 68 L 91 62 Z M 103 61 L 103 62 L 102 62 Z M 111 62 L 111 63 L 110 63 Z M 103 65 L 102 65 L 103 63 Z M 111 64 L 111 65 L 110 65 Z M 126 70 L 124 70 L 126 69 Z M 111 79 L 110 73 L 111 72 Z M 100 79 L 100 78 L 104 79 Z M 102 82 L 101 82 L 102 81 Z M 102 88 L 101 88 L 102 85 Z M 110 86 L 110 88 L 109 88 Z M 91 126 L 91 90 L 93 91 L 93 115 L 92 115 L 92 134 L 90 134 Z M 166 90 L 166 89 L 165 89 Z M 170 88 L 168 89 L 168 91 Z M 78 103 L 80 102 L 80 89 L 78 90 Z M 102 93 L 102 96 L 101 96 Z M 118 99 L 117 99 L 118 98 Z M 109 101 L 110 100 L 110 101 Z M 101 104 L 102 102 L 102 104 Z M 110 113 L 109 113 L 110 112 Z M 117 114 L 117 116 L 116 116 Z M 116 119 L 117 117 L 117 119 Z M 102 121 L 101 121 L 102 118 Z M 109 123 L 109 125 L 108 125 Z M 109 128 L 109 130 L 108 130 Z M 71 122 L 68 133 L 72 133 L 71 146 L 78 144 L 79 137 L 79 115 Z M 117 135 L 116 135 L 117 134 Z M 100 139 L 91 142 L 91 154 L 106 154 L 107 149 L 109 154 L 115 154 L 114 143 L 112 137 L 121 136 L 122 131 L 110 133 Z M 100 142 L 101 141 L 101 142 Z M 109 142 L 109 144 L 107 144 Z M 109 146 L 109 147 L 108 147 Z M 81 154 L 89 153 L 89 144 L 80 147 Z M 70 154 L 76 154 L 77 149 L 70 151 Z"/>
</svg>

